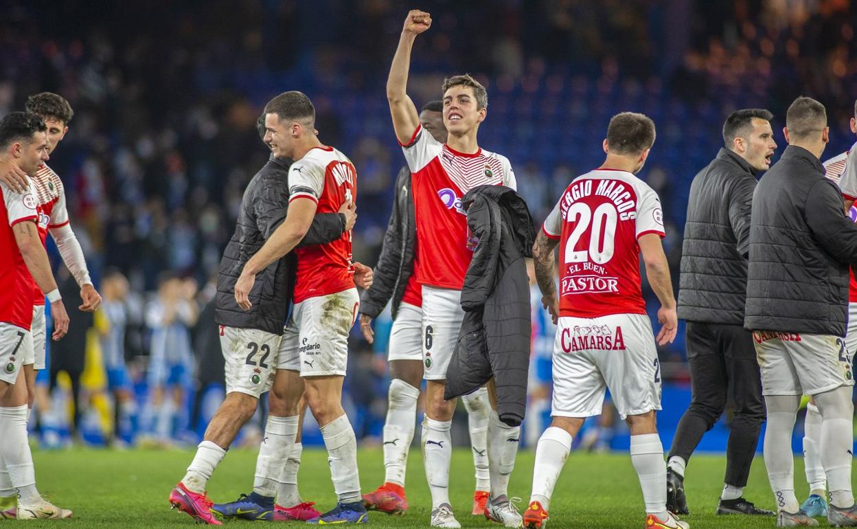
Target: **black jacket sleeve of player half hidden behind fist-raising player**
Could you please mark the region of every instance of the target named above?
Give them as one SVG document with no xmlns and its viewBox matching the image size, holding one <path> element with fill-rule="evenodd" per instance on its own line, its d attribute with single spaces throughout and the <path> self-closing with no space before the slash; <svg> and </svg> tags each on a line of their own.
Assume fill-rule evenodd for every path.
<svg viewBox="0 0 857 529">
<path fill-rule="evenodd" d="M 363 291 L 363 296 L 360 299 L 360 314 L 365 314 L 371 318 L 378 317 L 387 303 L 390 302 L 390 298 L 393 298 L 396 281 L 399 280 L 402 245 L 407 238 L 407 234 L 402 232 L 402 215 L 408 214 L 399 207 L 399 193 L 402 192 L 402 187 L 405 185 L 404 180 L 408 171 L 410 170 L 407 167 L 402 167 L 396 177 L 393 214 L 390 215 L 390 221 L 387 223 L 387 232 L 384 234 L 384 242 L 381 244 L 381 255 L 378 257 L 378 264 L 375 265 L 375 280 L 372 282 L 372 288 Z"/>
</svg>

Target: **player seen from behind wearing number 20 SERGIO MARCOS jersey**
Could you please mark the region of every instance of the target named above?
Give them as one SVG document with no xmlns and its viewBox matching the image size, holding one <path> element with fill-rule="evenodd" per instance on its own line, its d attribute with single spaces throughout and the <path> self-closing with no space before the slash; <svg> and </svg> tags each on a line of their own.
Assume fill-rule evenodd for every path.
<svg viewBox="0 0 857 529">
<path fill-rule="evenodd" d="M 601 413 L 608 388 L 631 430 L 631 461 L 643 489 L 649 528 L 686 528 L 667 511 L 667 466 L 657 435 L 661 369 L 640 291 L 639 253 L 661 302 L 657 342 L 675 339 L 678 325 L 669 279 L 661 201 L 634 176 L 655 142 L 655 123 L 623 112 L 608 125 L 607 159 L 566 188 L 545 219 L 533 248 L 542 303 L 558 322 L 554 339 L 553 421 L 536 446 L 530 506 L 524 526 L 542 527 L 562 465 L 584 419 Z M 554 247 L 560 243 L 560 294 Z"/>
</svg>

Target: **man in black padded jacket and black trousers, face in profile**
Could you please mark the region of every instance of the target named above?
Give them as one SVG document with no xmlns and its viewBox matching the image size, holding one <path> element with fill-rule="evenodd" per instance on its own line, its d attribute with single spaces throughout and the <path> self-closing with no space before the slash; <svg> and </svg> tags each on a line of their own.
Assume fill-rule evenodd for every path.
<svg viewBox="0 0 857 529">
<path fill-rule="evenodd" d="M 667 508 L 688 514 L 685 466 L 726 407 L 735 412 L 717 514 L 773 514 L 741 497 L 764 421 L 752 336 L 744 329 L 750 209 L 756 174 L 776 149 L 769 111 L 733 112 L 717 157 L 691 184 L 679 280 L 679 318 L 686 320 L 691 405 L 669 451 Z"/>
</svg>

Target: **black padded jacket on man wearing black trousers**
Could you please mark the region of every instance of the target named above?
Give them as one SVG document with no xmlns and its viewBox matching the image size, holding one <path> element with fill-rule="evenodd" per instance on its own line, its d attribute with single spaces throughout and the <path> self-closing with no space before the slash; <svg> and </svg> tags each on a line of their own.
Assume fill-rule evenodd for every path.
<svg viewBox="0 0 857 529">
<path fill-rule="evenodd" d="M 744 324 L 753 189 L 756 171 L 725 148 L 693 177 L 681 246 L 682 320 Z"/>
</svg>

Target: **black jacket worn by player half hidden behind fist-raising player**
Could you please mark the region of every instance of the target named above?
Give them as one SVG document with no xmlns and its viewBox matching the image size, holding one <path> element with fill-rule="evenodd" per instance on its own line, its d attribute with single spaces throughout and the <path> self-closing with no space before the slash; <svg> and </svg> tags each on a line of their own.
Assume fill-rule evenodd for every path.
<svg viewBox="0 0 857 529">
<path fill-rule="evenodd" d="M 376 318 L 390 298 L 393 298 L 393 319 L 399 312 L 405 286 L 414 273 L 414 253 L 417 249 L 417 220 L 411 197 L 411 170 L 402 167 L 396 177 L 396 200 L 387 224 L 381 255 L 375 265 L 372 288 L 360 296 L 360 314 Z"/>
</svg>

